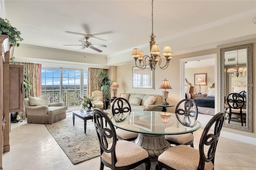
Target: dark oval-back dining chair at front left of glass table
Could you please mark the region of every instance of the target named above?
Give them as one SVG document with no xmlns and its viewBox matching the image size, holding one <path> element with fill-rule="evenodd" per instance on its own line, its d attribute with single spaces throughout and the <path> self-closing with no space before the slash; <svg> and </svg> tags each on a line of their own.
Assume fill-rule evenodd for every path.
<svg viewBox="0 0 256 170">
<path fill-rule="evenodd" d="M 104 166 L 112 170 L 130 170 L 143 163 L 146 170 L 150 169 L 146 150 L 134 142 L 118 140 L 112 121 L 102 110 L 94 109 L 92 114 L 100 143 L 100 170 Z M 104 121 L 107 121 L 108 127 L 104 126 Z"/>
</svg>

